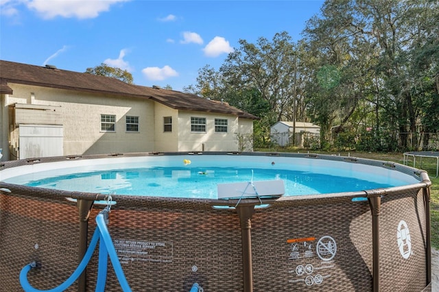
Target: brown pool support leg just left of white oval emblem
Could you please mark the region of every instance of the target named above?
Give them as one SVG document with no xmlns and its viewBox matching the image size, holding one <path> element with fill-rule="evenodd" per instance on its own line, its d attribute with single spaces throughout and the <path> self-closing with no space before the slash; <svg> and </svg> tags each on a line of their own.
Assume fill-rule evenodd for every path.
<svg viewBox="0 0 439 292">
<path fill-rule="evenodd" d="M 381 196 L 368 197 L 372 211 L 372 284 L 373 291 L 379 292 L 379 212 Z"/>
</svg>

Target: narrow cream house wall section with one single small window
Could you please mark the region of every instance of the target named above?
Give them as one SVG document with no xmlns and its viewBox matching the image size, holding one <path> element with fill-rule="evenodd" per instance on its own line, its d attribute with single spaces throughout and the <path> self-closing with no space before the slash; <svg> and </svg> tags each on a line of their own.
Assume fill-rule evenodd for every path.
<svg viewBox="0 0 439 292">
<path fill-rule="evenodd" d="M 171 132 L 165 132 L 163 118 L 172 118 Z M 154 104 L 154 136 L 156 145 L 154 151 L 175 152 L 178 151 L 178 110 L 163 106 L 163 104 Z"/>
</svg>

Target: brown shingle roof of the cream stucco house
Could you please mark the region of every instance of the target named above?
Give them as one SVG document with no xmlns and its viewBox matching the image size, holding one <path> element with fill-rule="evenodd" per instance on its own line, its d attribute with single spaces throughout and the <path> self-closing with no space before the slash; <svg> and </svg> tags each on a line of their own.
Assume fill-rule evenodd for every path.
<svg viewBox="0 0 439 292">
<path fill-rule="evenodd" d="M 258 119 L 227 103 L 204 99 L 198 95 L 128 84 L 112 77 L 79 73 L 47 66 L 36 66 L 0 60 L 0 93 L 12 94 L 8 82 L 88 93 L 152 99 L 176 110 L 233 114 L 245 119 Z"/>
</svg>

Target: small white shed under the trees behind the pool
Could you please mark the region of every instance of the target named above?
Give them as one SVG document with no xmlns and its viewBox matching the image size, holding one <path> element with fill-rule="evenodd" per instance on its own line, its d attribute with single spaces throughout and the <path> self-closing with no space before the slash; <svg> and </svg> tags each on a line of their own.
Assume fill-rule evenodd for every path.
<svg viewBox="0 0 439 292">
<path fill-rule="evenodd" d="M 320 137 L 320 126 L 313 123 L 296 121 L 296 135 L 294 135 L 294 122 L 278 121 L 270 128 L 270 138 L 273 143 L 279 146 L 288 146 L 292 144 L 292 139 L 296 136 L 296 146 L 303 147 L 305 138 Z"/>
</svg>

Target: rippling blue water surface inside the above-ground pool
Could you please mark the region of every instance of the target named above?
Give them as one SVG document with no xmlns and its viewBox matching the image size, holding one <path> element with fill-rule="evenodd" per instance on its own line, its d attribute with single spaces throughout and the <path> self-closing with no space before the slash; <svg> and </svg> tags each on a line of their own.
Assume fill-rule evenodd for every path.
<svg viewBox="0 0 439 292">
<path fill-rule="evenodd" d="M 152 167 L 93 171 L 31 180 L 25 185 L 117 195 L 216 199 L 217 184 L 257 180 L 283 180 L 285 182 L 285 195 L 340 193 L 391 186 L 390 184 L 368 182 L 358 178 L 303 171 L 220 167 L 211 167 L 209 169 Z"/>
</svg>

